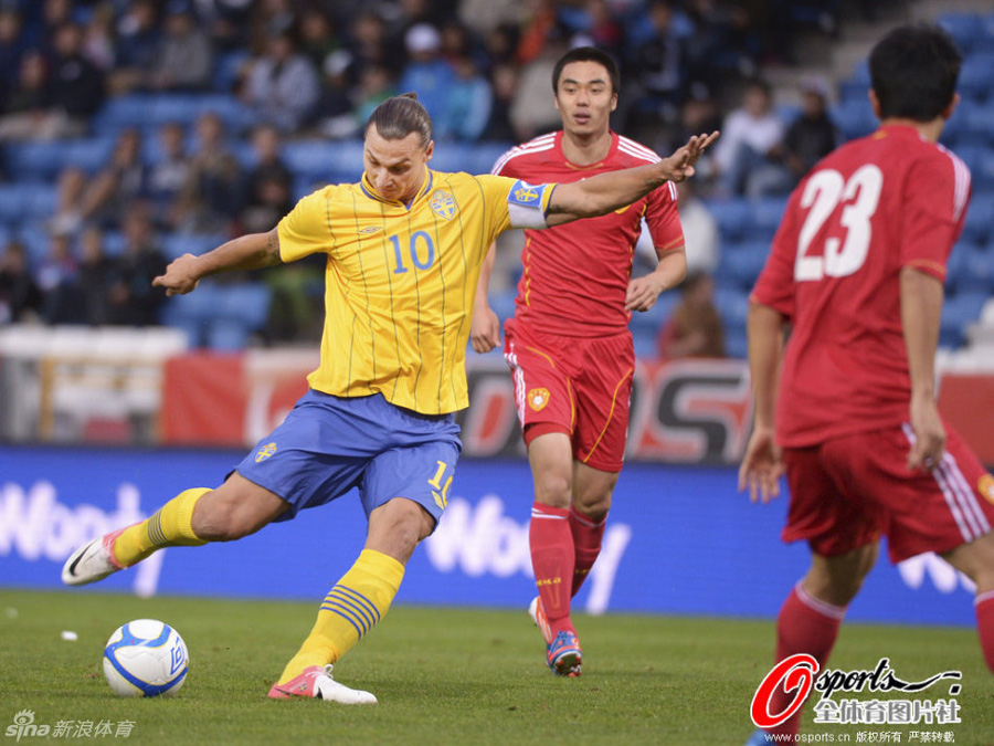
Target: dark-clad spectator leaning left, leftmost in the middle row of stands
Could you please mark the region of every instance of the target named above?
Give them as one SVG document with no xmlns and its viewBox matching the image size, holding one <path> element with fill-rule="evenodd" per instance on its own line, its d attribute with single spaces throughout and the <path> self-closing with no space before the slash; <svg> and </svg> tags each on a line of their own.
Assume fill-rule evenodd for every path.
<svg viewBox="0 0 994 746">
<path fill-rule="evenodd" d="M 71 191 L 63 193 L 60 202 L 77 188 L 74 178 L 76 169 L 67 170 L 72 176 L 60 181 L 61 186 Z M 67 212 L 60 211 L 53 220 L 53 228 L 75 233 L 83 223 L 91 221 L 104 228 L 117 228 L 126 206 L 148 195 L 148 167 L 141 159 L 141 133 L 125 129 L 117 138 L 110 162 L 91 181 L 85 182 L 82 190 L 75 192 L 74 206 Z"/>
</svg>

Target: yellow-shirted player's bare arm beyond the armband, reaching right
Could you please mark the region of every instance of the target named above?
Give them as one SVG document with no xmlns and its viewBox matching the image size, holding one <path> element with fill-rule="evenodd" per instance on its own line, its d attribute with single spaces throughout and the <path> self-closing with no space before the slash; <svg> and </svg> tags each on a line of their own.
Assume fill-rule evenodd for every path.
<svg viewBox="0 0 994 746">
<path fill-rule="evenodd" d="M 561 225 L 580 218 L 607 214 L 642 199 L 667 181 L 689 179 L 694 176 L 695 164 L 717 138 L 717 130 L 710 135 L 695 135 L 672 156 L 657 164 L 558 185 L 549 200 L 546 224 Z"/>
</svg>

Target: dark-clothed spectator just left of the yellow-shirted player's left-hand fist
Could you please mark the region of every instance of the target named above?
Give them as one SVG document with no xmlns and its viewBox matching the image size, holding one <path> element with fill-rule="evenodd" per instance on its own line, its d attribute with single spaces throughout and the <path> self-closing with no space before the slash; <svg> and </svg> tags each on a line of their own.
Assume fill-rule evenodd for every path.
<svg viewBox="0 0 994 746">
<path fill-rule="evenodd" d="M 109 322 L 127 326 L 158 323 L 166 294 L 151 281 L 168 262 L 156 244 L 148 211 L 140 203 L 128 206 L 124 220 L 125 250 L 115 265 L 110 283 Z"/>
</svg>

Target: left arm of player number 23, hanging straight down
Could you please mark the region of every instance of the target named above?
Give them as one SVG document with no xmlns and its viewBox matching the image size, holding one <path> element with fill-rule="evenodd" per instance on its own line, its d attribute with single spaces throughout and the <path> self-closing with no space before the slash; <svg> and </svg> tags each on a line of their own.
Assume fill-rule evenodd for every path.
<svg viewBox="0 0 994 746">
<path fill-rule="evenodd" d="M 780 476 L 783 474 L 783 462 L 773 429 L 773 408 L 783 347 L 783 316 L 769 306 L 752 303 L 747 325 L 754 420 L 742 465 L 739 467 L 739 490 L 748 486 L 749 497 L 753 503 L 760 497 L 766 503 L 780 494 Z"/>
</svg>

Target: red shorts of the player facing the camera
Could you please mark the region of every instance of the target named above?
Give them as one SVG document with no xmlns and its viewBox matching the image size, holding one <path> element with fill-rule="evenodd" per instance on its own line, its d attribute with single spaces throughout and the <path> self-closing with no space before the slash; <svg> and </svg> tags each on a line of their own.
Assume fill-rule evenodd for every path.
<svg viewBox="0 0 994 746">
<path fill-rule="evenodd" d="M 509 319 L 504 358 L 511 369 L 518 420 L 563 432 L 573 458 L 605 472 L 625 459 L 635 350 L 627 332 L 606 338 L 543 335 Z M 535 432 L 535 431 L 532 431 Z"/>
</svg>

